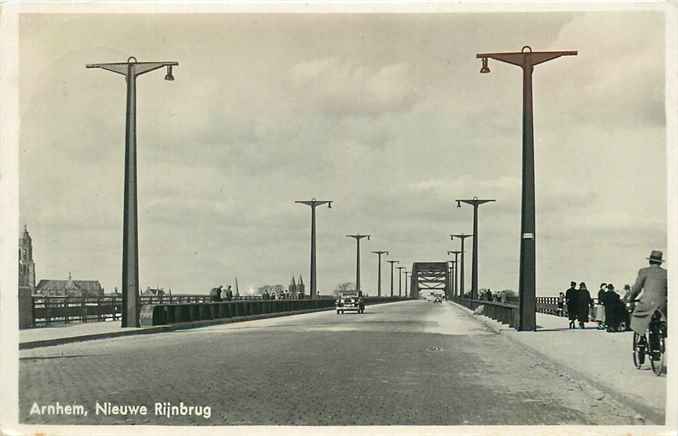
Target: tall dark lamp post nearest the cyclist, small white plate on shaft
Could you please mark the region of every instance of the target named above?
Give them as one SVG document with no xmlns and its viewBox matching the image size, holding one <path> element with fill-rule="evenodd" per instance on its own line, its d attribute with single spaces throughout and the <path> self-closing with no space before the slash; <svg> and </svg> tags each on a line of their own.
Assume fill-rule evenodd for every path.
<svg viewBox="0 0 678 436">
<path fill-rule="evenodd" d="M 576 56 L 575 50 L 532 51 L 524 46 L 520 52 L 478 53 L 482 59 L 481 73 L 489 73 L 487 60 L 495 59 L 523 69 L 523 189 L 520 219 L 520 293 L 519 331 L 537 328 L 536 303 L 536 247 L 535 247 L 535 201 L 534 201 L 534 126 L 532 118 L 532 72 L 535 65 L 559 58 Z"/>
</svg>

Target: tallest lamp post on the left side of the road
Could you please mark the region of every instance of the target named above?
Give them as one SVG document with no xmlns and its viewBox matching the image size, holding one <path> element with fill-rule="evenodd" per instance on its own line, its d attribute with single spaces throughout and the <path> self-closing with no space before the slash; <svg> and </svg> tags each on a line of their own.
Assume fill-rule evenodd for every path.
<svg viewBox="0 0 678 436">
<path fill-rule="evenodd" d="M 178 62 L 127 62 L 87 64 L 125 76 L 127 109 L 125 112 L 125 189 L 122 225 L 122 327 L 139 327 L 139 228 L 137 215 L 137 77 L 163 67 L 165 80 L 174 80 L 172 67 Z"/>
</svg>

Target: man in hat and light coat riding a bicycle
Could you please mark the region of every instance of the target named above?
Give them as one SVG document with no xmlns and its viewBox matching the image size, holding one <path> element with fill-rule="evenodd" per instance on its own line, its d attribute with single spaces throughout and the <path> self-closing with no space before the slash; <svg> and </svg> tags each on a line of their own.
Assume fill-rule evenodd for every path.
<svg viewBox="0 0 678 436">
<path fill-rule="evenodd" d="M 639 335 L 644 335 L 650 325 L 655 311 L 659 310 L 664 319 L 667 319 L 666 298 L 668 293 L 666 270 L 661 267 L 663 253 L 653 250 L 647 259 L 650 266 L 638 271 L 636 283 L 626 297 L 633 301 L 641 293 L 635 309 L 631 314 L 631 329 Z"/>
</svg>

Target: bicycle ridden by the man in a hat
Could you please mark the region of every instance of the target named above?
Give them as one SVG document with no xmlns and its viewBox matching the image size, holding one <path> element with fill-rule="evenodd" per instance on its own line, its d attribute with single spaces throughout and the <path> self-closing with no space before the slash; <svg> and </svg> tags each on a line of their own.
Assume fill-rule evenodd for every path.
<svg viewBox="0 0 678 436">
<path fill-rule="evenodd" d="M 650 318 L 650 325 L 643 334 L 633 332 L 633 364 L 640 369 L 650 359 L 655 375 L 660 376 L 666 370 L 666 318 L 656 310 Z"/>
</svg>

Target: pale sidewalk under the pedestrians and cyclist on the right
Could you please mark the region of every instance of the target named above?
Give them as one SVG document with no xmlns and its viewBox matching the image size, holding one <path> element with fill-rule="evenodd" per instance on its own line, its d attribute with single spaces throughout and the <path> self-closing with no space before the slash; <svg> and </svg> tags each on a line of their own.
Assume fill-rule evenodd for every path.
<svg viewBox="0 0 678 436">
<path fill-rule="evenodd" d="M 666 375 L 655 376 L 649 362 L 640 370 L 633 366 L 633 332 L 608 333 L 598 330 L 594 322 L 583 330 L 569 329 L 567 318 L 542 313 L 537 313 L 536 332 L 519 332 L 483 315 L 474 316 L 603 392 L 623 397 L 652 421 L 664 421 Z"/>
</svg>

